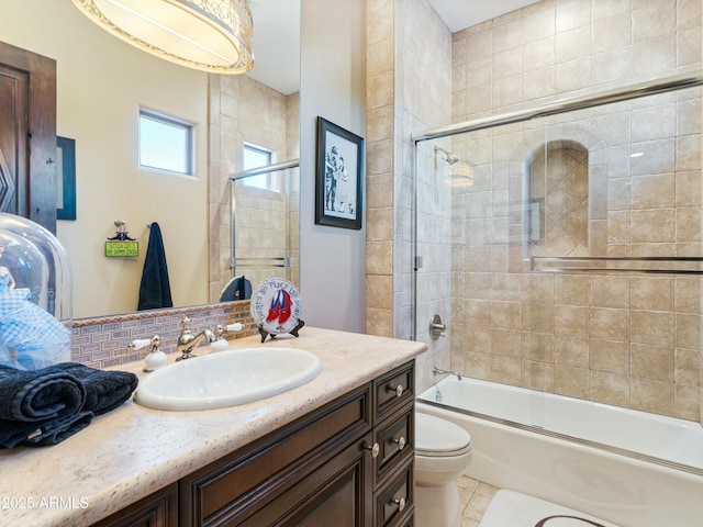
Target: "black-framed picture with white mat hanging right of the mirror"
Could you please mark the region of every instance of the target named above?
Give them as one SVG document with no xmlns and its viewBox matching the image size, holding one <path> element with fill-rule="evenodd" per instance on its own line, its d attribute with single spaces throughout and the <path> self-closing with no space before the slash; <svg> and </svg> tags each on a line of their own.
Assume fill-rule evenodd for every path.
<svg viewBox="0 0 703 527">
<path fill-rule="evenodd" d="M 315 223 L 361 228 L 364 138 L 317 117 Z"/>
</svg>

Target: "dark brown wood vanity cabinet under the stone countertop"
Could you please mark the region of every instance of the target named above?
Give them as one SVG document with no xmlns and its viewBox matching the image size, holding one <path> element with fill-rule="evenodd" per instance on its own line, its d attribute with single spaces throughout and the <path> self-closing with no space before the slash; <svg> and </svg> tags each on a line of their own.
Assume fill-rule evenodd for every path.
<svg viewBox="0 0 703 527">
<path fill-rule="evenodd" d="M 409 362 L 181 479 L 179 525 L 412 526 L 414 392 Z"/>
</svg>

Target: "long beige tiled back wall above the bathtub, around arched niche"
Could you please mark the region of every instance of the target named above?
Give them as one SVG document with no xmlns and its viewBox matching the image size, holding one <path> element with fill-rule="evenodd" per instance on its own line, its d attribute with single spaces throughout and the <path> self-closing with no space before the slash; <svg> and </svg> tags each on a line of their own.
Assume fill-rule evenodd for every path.
<svg viewBox="0 0 703 527">
<path fill-rule="evenodd" d="M 547 0 L 454 35 L 453 119 L 700 67 L 700 0 Z M 599 166 L 590 250 L 701 256 L 700 121 L 696 90 L 579 112 L 568 127 L 553 119 L 453 138 L 475 166 L 475 184 L 454 197 L 453 368 L 699 421 L 700 279 L 514 272 L 522 210 L 511 194 L 524 195 L 531 148 L 579 136 Z M 638 149 L 658 155 L 631 158 Z"/>
</svg>

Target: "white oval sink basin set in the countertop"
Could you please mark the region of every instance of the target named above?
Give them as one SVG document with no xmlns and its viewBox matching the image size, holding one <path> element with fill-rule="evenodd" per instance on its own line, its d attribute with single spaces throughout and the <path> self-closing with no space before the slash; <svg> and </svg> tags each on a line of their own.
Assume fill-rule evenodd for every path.
<svg viewBox="0 0 703 527">
<path fill-rule="evenodd" d="M 250 403 L 312 381 L 320 359 L 293 348 L 243 348 L 196 357 L 149 373 L 134 400 L 156 410 L 210 410 Z"/>
</svg>

